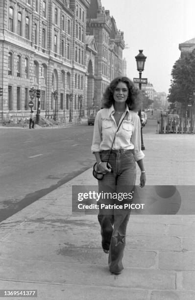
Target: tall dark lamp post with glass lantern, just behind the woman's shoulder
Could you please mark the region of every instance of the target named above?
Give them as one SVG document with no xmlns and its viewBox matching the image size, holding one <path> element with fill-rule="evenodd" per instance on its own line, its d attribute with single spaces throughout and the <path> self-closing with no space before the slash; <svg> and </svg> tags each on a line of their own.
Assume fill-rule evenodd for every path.
<svg viewBox="0 0 195 300">
<path fill-rule="evenodd" d="M 146 56 L 143 54 L 143 50 L 139 50 L 139 54 L 137 56 L 135 56 L 136 59 L 136 63 L 137 63 L 137 70 L 139 71 L 139 89 L 142 90 L 142 83 L 141 83 L 141 79 L 142 79 L 142 72 L 144 71 L 144 66 L 145 66 L 145 61 L 146 61 Z M 145 150 L 144 147 L 144 141 L 143 141 L 143 134 L 142 134 L 142 108 L 139 110 L 138 115 L 140 117 L 140 122 L 141 122 L 141 149 Z"/>
</svg>

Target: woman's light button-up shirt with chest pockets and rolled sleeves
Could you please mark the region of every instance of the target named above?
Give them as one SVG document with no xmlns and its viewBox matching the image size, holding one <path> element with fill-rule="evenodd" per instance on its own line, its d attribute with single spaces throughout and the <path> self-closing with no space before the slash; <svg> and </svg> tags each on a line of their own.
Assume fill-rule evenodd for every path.
<svg viewBox="0 0 195 300">
<path fill-rule="evenodd" d="M 113 114 L 115 113 L 114 106 L 103 108 L 97 112 L 94 123 L 94 135 L 92 142 L 92 153 L 100 152 L 101 150 L 110 150 L 115 133 L 118 126 L 115 122 Z M 125 116 L 123 122 L 122 119 Z M 141 125 L 138 114 L 129 110 L 126 105 L 126 110 L 122 114 L 119 125 L 119 131 L 116 134 L 113 150 L 133 150 L 136 161 L 145 157 L 141 150 Z"/>
</svg>

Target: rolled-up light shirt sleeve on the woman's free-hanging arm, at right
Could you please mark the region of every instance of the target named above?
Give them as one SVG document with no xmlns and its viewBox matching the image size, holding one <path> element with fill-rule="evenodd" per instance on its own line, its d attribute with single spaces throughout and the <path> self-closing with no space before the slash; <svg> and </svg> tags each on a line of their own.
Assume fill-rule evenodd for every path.
<svg viewBox="0 0 195 300">
<path fill-rule="evenodd" d="M 140 118 L 135 114 L 134 132 L 131 137 L 131 142 L 134 145 L 134 157 L 138 161 L 145 157 L 144 152 L 141 150 L 141 124 Z"/>
</svg>

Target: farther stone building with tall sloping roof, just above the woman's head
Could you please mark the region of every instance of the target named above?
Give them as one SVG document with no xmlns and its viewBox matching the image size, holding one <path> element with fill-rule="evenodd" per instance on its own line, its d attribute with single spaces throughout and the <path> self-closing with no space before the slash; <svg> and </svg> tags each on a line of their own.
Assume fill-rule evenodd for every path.
<svg viewBox="0 0 195 300">
<path fill-rule="evenodd" d="M 88 105 L 91 106 L 93 101 L 93 105 L 99 109 L 106 86 L 113 78 L 122 75 L 124 36 L 123 32 L 117 29 L 115 19 L 110 16 L 109 10 L 102 7 L 100 0 L 91 0 L 87 9 L 86 34 L 94 36 L 97 45 L 95 69 L 91 72 L 94 98 Z"/>
</svg>

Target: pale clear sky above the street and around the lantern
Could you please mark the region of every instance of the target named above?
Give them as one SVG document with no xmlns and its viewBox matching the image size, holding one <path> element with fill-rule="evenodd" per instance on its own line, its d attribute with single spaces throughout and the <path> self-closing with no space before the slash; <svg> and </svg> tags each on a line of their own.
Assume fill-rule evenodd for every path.
<svg viewBox="0 0 195 300">
<path fill-rule="evenodd" d="M 143 78 L 156 92 L 169 93 L 171 70 L 180 57 L 179 44 L 195 38 L 195 0 L 101 0 L 127 45 L 127 76 L 139 77 L 135 56 L 147 57 Z"/>
</svg>

